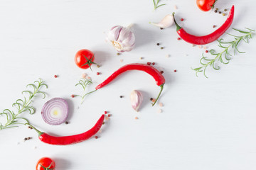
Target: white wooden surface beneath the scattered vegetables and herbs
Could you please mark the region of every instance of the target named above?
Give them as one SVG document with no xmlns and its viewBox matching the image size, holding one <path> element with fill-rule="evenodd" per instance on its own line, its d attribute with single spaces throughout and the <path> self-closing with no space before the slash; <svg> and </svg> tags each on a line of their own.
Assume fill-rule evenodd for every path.
<svg viewBox="0 0 256 170">
<path fill-rule="evenodd" d="M 226 17 L 203 13 L 196 0 L 170 0 L 152 11 L 151 1 L 82 0 L 1 0 L 0 1 L 0 94 L 1 111 L 11 108 L 26 84 L 44 79 L 49 86 L 46 99 L 36 98 L 35 115 L 24 115 L 40 130 L 55 135 L 72 135 L 92 127 L 104 111 L 112 118 L 102 128 L 100 138 L 77 145 L 52 146 L 37 139 L 36 132 L 20 128 L 0 132 L 0 169 L 35 169 L 41 157 L 52 157 L 56 170 L 65 169 L 176 169 L 240 170 L 256 166 L 256 38 L 240 50 L 246 54 L 232 57 L 230 64 L 216 72 L 208 69 L 209 79 L 195 76 L 203 49 L 178 41 L 176 28 L 160 30 L 149 25 L 176 11 L 184 18 L 183 27 L 203 35 L 213 32 Z M 232 27 L 256 28 L 253 0 L 220 1 L 222 11 L 235 4 Z M 178 9 L 174 9 L 174 5 Z M 117 56 L 105 43 L 112 26 L 135 23 L 137 47 Z M 181 23 L 179 21 L 179 23 Z M 233 30 L 228 30 L 233 33 Z M 228 39 L 227 35 L 223 38 Z M 164 50 L 156 43 L 160 42 Z M 207 45 L 217 47 L 216 42 Z M 73 62 L 75 52 L 87 48 L 95 52 L 102 67 L 82 70 Z M 171 57 L 165 57 L 167 54 Z M 144 57 L 144 60 L 139 60 Z M 124 62 L 119 62 L 119 60 Z M 166 85 L 159 106 L 151 107 L 150 97 L 159 92 L 154 80 L 143 72 L 129 72 L 109 86 L 88 96 L 80 105 L 70 98 L 81 89 L 75 84 L 83 72 L 92 77 L 94 86 L 123 64 L 156 62 L 164 69 Z M 174 69 L 178 72 L 174 73 Z M 97 76 L 96 72 L 102 74 Z M 58 79 L 53 78 L 58 74 Z M 141 112 L 129 103 L 133 89 L 144 94 Z M 124 95 L 124 98 L 119 98 Z M 67 98 L 71 111 L 68 125 L 51 126 L 43 122 L 40 110 L 53 97 Z M 79 107 L 79 108 L 78 108 Z M 139 120 L 135 120 L 135 117 Z M 33 140 L 23 142 L 24 137 Z M 19 143 L 19 144 L 18 144 Z"/>
</svg>

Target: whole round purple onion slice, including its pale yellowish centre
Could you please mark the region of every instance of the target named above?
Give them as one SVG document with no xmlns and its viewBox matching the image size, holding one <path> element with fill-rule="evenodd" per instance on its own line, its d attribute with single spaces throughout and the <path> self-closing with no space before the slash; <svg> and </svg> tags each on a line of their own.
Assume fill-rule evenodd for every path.
<svg viewBox="0 0 256 170">
<path fill-rule="evenodd" d="M 63 98 L 52 98 L 41 111 L 43 120 L 50 125 L 60 125 L 68 118 L 68 102 Z"/>
</svg>

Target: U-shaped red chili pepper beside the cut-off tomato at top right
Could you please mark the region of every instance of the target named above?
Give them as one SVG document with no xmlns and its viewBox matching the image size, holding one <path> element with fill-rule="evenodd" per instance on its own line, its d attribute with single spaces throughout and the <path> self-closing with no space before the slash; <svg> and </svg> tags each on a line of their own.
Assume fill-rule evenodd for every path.
<svg viewBox="0 0 256 170">
<path fill-rule="evenodd" d="M 191 34 L 187 33 L 186 30 L 184 30 L 183 28 L 178 26 L 178 24 L 176 23 L 175 18 L 174 18 L 174 22 L 177 27 L 177 33 L 178 33 L 178 35 L 180 35 L 180 37 L 183 40 L 185 40 L 186 42 L 189 42 L 191 44 L 196 44 L 196 45 L 208 44 L 208 43 L 213 42 L 213 41 L 217 40 L 218 38 L 220 38 L 220 36 L 223 35 L 223 33 L 225 33 L 226 30 L 228 30 L 228 28 L 231 26 L 231 23 L 233 22 L 234 11 L 235 11 L 235 7 L 232 6 L 225 23 L 223 23 L 223 25 L 220 26 L 220 28 L 215 30 L 213 33 L 210 33 L 209 35 L 204 35 L 204 36 L 195 36 L 195 35 L 191 35 Z M 174 16 L 174 13 L 173 13 L 173 16 Z"/>
</svg>

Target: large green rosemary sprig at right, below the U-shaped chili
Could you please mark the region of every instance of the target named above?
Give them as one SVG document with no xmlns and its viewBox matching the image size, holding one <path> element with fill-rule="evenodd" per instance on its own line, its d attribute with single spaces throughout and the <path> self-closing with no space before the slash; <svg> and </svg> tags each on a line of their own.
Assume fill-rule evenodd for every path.
<svg viewBox="0 0 256 170">
<path fill-rule="evenodd" d="M 233 50 L 234 55 L 235 55 L 235 52 L 245 53 L 245 52 L 240 52 L 240 50 L 238 50 L 238 45 L 242 41 L 249 43 L 249 39 L 252 38 L 252 34 L 255 32 L 255 30 L 252 30 L 250 28 L 245 28 L 245 29 L 247 29 L 247 31 L 238 30 L 238 29 L 233 28 L 233 30 L 236 30 L 239 33 L 242 33 L 242 35 L 233 35 L 233 34 L 227 33 L 228 35 L 233 36 L 233 38 L 235 39 L 233 41 L 224 42 L 223 38 L 218 40 L 218 46 L 223 48 L 223 51 L 217 53 L 217 52 L 215 52 L 215 50 L 210 50 L 209 51 L 210 55 L 212 55 L 213 58 L 210 59 L 210 58 L 202 55 L 202 58 L 200 60 L 201 67 L 193 69 L 196 72 L 196 77 L 198 77 L 198 73 L 203 72 L 203 75 L 206 78 L 208 78 L 206 76 L 206 68 L 208 66 L 213 67 L 213 69 L 215 69 L 215 70 L 219 70 L 220 66 L 216 65 L 215 62 L 228 64 L 231 59 L 230 56 L 232 56 L 230 54 L 230 50 Z"/>
</svg>

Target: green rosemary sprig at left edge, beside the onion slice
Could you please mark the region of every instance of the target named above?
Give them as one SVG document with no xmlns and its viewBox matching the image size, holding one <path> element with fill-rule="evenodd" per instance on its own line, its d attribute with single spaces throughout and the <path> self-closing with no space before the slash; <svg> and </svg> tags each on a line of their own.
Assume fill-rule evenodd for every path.
<svg viewBox="0 0 256 170">
<path fill-rule="evenodd" d="M 43 86 L 46 86 L 46 88 L 48 88 L 48 86 L 44 84 L 44 81 L 42 79 L 34 81 L 34 84 L 28 84 L 27 88 L 28 86 L 32 86 L 33 91 L 22 91 L 22 94 L 28 94 L 29 96 L 24 96 L 24 99 L 19 98 L 18 100 L 16 100 L 15 103 L 12 104 L 13 107 L 17 108 L 16 113 L 14 113 L 14 111 L 11 111 L 10 109 L 4 109 L 4 111 L 0 113 L 0 115 L 6 116 L 6 123 L 4 125 L 0 123 L 0 130 L 18 127 L 18 125 L 26 125 L 26 123 L 28 123 L 28 120 L 26 118 L 19 117 L 19 115 L 25 112 L 28 112 L 29 114 L 33 114 L 36 112 L 36 109 L 31 106 L 31 102 L 36 94 L 43 94 L 43 98 L 46 97 L 45 92 L 41 91 L 41 88 Z M 26 123 L 22 123 L 18 120 L 25 120 Z"/>
</svg>

